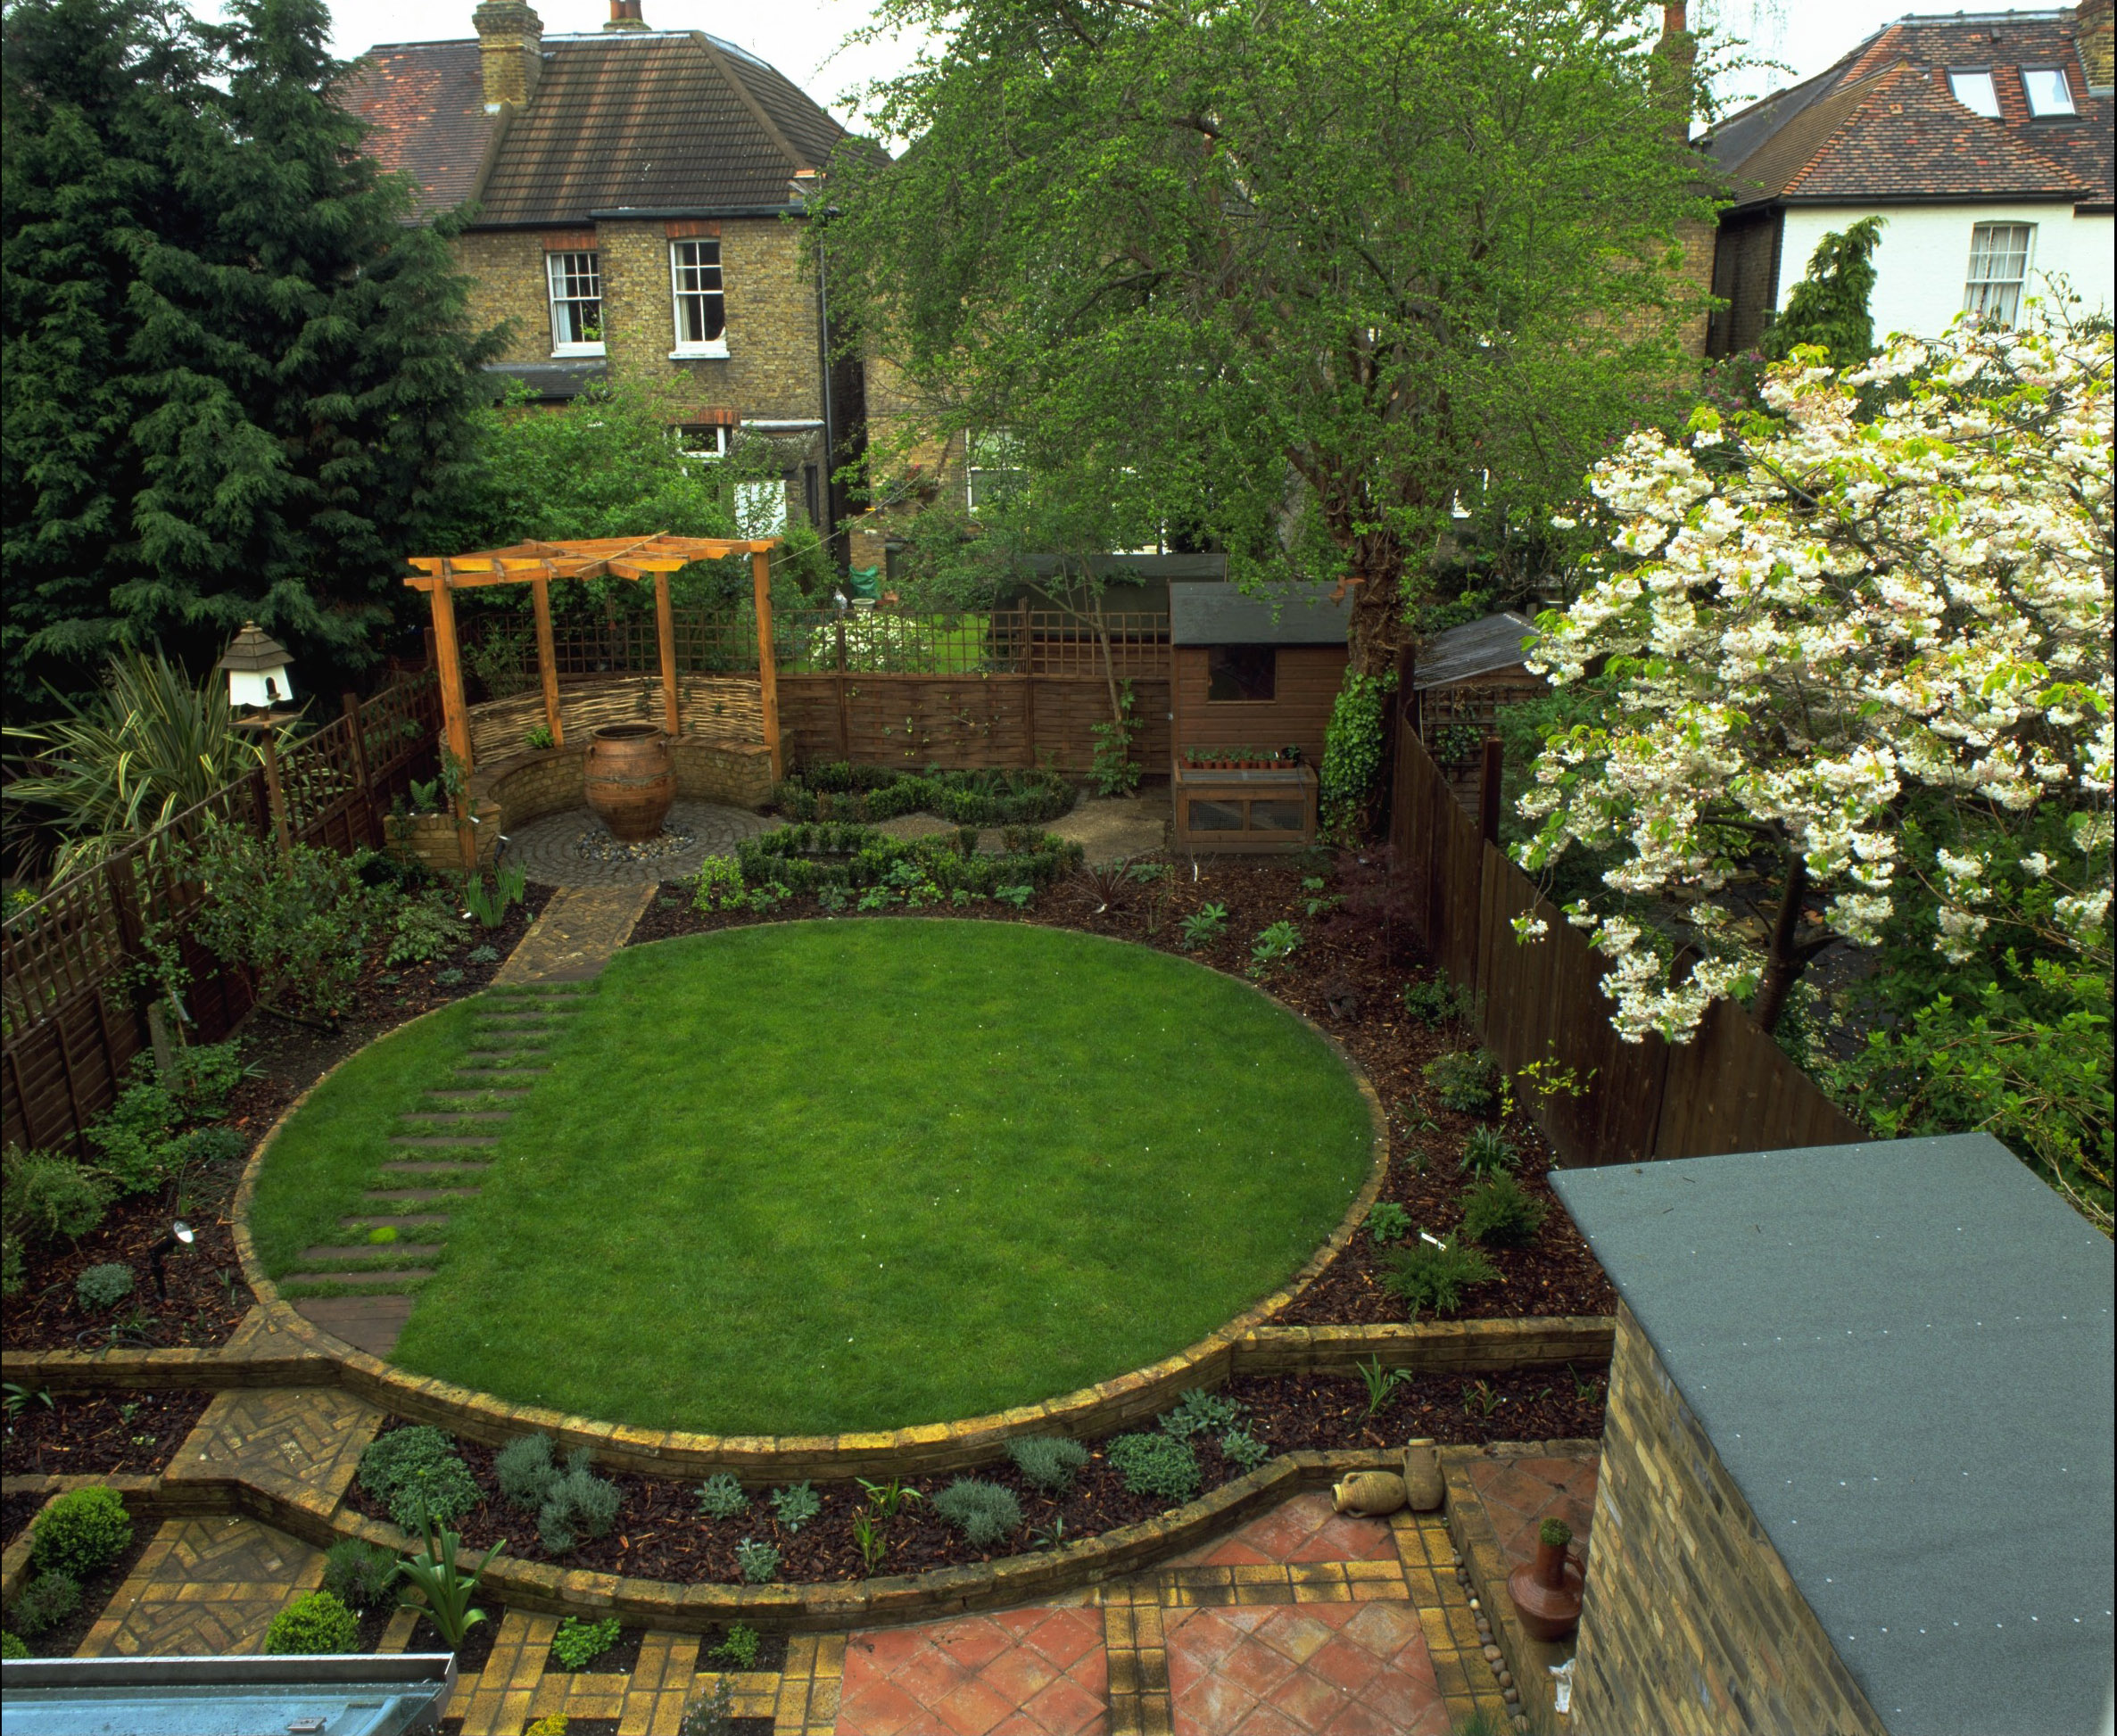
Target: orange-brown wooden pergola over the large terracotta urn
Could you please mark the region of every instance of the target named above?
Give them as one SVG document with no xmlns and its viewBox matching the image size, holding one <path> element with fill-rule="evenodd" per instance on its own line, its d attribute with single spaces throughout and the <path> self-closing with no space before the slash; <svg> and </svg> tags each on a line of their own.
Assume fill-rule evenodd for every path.
<svg viewBox="0 0 2117 1736">
<path fill-rule="evenodd" d="M 413 555 L 417 578 L 404 582 L 426 591 L 434 608 L 434 654 L 440 661 L 440 716 L 449 752 L 468 771 L 470 707 L 464 703 L 464 658 L 455 637 L 455 595 L 481 584 L 527 584 L 536 603 L 536 654 L 544 682 L 544 724 L 555 743 L 565 741 L 559 718 L 559 667 L 550 637 L 550 582 L 555 578 L 652 578 L 654 627 L 661 641 L 663 726 L 682 733 L 675 686 L 675 618 L 669 610 L 669 574 L 692 561 L 720 561 L 728 555 L 749 557 L 749 578 L 758 605 L 758 699 L 764 707 L 764 745 L 773 756 L 773 777 L 779 762 L 779 692 L 773 671 L 773 589 L 771 553 L 779 538 L 728 540 L 718 536 L 601 536 L 578 542 L 517 542 L 512 548 L 481 548 L 474 555 Z M 466 845 L 468 847 L 468 845 Z"/>
</svg>

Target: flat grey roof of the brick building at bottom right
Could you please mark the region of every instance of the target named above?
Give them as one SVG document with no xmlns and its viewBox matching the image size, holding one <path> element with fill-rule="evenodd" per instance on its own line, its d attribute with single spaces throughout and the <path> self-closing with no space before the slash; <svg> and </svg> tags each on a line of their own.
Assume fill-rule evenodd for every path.
<svg viewBox="0 0 2117 1736">
<path fill-rule="evenodd" d="M 1990 1135 L 1552 1175 L 1895 1736 L 2111 1692 L 2111 1243 Z"/>
</svg>

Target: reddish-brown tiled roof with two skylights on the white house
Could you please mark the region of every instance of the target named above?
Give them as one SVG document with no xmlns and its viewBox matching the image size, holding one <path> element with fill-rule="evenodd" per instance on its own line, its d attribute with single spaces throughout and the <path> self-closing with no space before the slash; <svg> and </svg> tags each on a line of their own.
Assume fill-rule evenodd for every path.
<svg viewBox="0 0 2117 1736">
<path fill-rule="evenodd" d="M 2032 116 L 2022 68 L 2060 66 L 2077 114 Z M 2001 116 L 1954 100 L 1948 70 L 1990 70 Z M 2111 93 L 2092 91 L 2077 17 L 1907 15 L 1838 66 L 1727 116 L 1702 140 L 1738 205 L 1766 201 L 2113 199 Z"/>
</svg>

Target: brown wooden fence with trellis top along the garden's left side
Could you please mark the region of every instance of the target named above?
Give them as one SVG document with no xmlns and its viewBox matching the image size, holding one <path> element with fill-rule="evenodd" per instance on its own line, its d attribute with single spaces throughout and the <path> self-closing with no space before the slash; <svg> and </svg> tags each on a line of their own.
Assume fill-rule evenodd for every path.
<svg viewBox="0 0 2117 1736">
<path fill-rule="evenodd" d="M 413 777 L 436 771 L 440 699 L 415 675 L 375 699 L 345 697 L 343 713 L 279 758 L 288 830 L 334 851 L 383 843 L 383 815 Z M 252 984 L 191 934 L 199 889 L 178 860 L 207 819 L 273 834 L 263 768 L 216 790 L 131 849 L 55 885 L 0 929 L 0 1139 L 72 1147 L 116 1101 L 148 1048 L 144 948 L 174 940 L 191 987 L 188 1035 L 218 1042 L 250 1010 Z"/>
</svg>

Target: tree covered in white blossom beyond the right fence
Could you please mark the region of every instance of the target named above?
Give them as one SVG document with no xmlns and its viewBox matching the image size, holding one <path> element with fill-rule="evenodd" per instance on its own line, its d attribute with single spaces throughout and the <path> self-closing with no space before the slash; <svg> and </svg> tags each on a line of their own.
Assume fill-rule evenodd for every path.
<svg viewBox="0 0 2117 1736">
<path fill-rule="evenodd" d="M 1763 398 L 1600 464 L 1613 559 L 1539 620 L 1531 667 L 1611 703 L 1545 743 L 1518 860 L 1615 860 L 1567 917 L 1620 1033 L 1751 991 L 1772 1029 L 1823 946 L 1884 932 L 2106 963 L 2109 332 L 1965 322 L 1842 375 L 1804 347 Z"/>
</svg>

